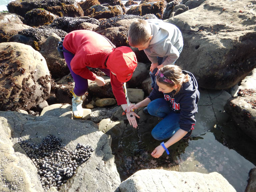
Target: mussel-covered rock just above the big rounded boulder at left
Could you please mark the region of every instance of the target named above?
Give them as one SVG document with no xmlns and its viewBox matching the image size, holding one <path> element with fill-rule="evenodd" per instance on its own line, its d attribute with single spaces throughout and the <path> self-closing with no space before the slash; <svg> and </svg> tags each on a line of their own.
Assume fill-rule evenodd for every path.
<svg viewBox="0 0 256 192">
<path fill-rule="evenodd" d="M 49 37 L 52 33 L 57 34 L 59 37 L 65 37 L 67 34 L 65 31 L 61 29 L 54 29 L 49 26 L 41 26 L 38 28 L 30 28 L 24 29 L 19 32 L 19 34 L 24 35 L 26 37 L 31 37 L 35 39 L 35 41 L 40 41 L 43 36 Z M 39 51 L 39 48 L 38 48 Z"/>
</svg>

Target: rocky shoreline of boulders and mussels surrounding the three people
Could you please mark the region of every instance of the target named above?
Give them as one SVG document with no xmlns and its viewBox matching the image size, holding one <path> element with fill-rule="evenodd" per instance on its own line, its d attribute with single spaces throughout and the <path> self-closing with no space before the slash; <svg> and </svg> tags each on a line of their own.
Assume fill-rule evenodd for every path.
<svg viewBox="0 0 256 192">
<path fill-rule="evenodd" d="M 127 31 L 135 18 L 158 18 L 181 30 L 184 48 L 176 64 L 198 80 L 201 97 L 192 137 L 204 138 L 216 125 L 232 119 L 252 142 L 256 141 L 255 2 L 145 0 L 127 10 L 132 4 L 135 2 L 16 0 L 8 4 L 8 12 L 0 13 L 0 191 L 255 190 L 254 161 L 241 158 L 244 173 L 240 175 L 250 177 L 247 185 L 247 179 L 228 177 L 236 174 L 234 168 L 216 162 L 214 154 L 205 149 L 200 153 L 213 160 L 210 168 L 193 168 L 194 172 L 178 163 L 185 173 L 160 170 L 145 150 L 138 156 L 128 155 L 133 151 L 128 150 L 126 137 L 138 149 L 142 144 L 150 150 L 148 133 L 158 118 L 138 109 L 141 118 L 134 130 L 116 105 L 110 79 L 97 69 L 90 70 L 102 76 L 106 85 L 88 82 L 83 118 L 73 119 L 69 92 L 73 79 L 56 49 L 61 37 L 87 29 L 106 36 L 117 47 L 129 46 Z M 130 101 L 136 103 L 151 91 L 150 63 L 143 51 L 132 49 L 138 67 L 127 91 Z M 185 145 L 192 145 L 190 141 L 193 139 Z M 199 148 L 193 152 L 198 158 Z M 183 153 L 190 155 L 185 149 Z M 126 157 L 128 176 L 122 182 L 113 154 Z M 174 160 L 170 160 L 166 157 L 165 165 L 171 165 Z M 194 166 L 198 166 L 196 161 Z M 145 170 L 131 171 L 132 162 Z M 231 165 L 235 158 L 227 162 Z"/>
</svg>

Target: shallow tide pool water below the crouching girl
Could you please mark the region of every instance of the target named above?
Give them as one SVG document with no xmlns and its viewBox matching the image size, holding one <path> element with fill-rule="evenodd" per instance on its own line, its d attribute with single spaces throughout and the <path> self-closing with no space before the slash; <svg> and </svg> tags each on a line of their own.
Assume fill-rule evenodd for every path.
<svg viewBox="0 0 256 192">
<path fill-rule="evenodd" d="M 161 141 L 156 141 L 150 131 L 125 133 L 112 141 L 112 151 L 121 181 L 141 169 L 166 169 L 180 172 L 218 172 L 236 189 L 243 192 L 248 173 L 255 167 L 256 142 L 243 134 L 229 121 L 211 131 L 188 140 L 181 140 L 169 147 L 159 158 L 150 153 Z M 141 140 L 141 141 L 140 141 Z"/>
</svg>

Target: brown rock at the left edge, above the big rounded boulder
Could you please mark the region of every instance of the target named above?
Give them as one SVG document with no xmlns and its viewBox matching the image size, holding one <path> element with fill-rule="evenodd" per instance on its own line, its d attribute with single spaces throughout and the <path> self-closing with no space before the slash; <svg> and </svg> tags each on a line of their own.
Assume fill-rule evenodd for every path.
<svg viewBox="0 0 256 192">
<path fill-rule="evenodd" d="M 13 35 L 18 34 L 23 29 L 29 29 L 22 23 L 16 14 L 0 13 L 0 43 L 7 42 Z"/>
</svg>

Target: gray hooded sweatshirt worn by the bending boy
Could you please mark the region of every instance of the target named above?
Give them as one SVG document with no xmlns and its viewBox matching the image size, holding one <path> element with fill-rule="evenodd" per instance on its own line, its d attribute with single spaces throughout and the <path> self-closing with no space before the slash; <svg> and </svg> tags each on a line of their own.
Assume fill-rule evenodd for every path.
<svg viewBox="0 0 256 192">
<path fill-rule="evenodd" d="M 150 44 L 144 52 L 152 63 L 157 63 L 158 57 L 167 57 L 163 65 L 173 64 L 183 46 L 183 38 L 178 27 L 161 19 L 147 19 L 153 35 Z M 160 64 L 160 63 L 159 63 Z"/>
</svg>

